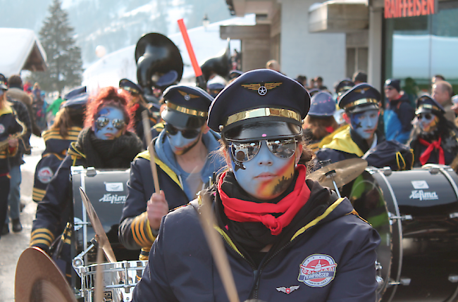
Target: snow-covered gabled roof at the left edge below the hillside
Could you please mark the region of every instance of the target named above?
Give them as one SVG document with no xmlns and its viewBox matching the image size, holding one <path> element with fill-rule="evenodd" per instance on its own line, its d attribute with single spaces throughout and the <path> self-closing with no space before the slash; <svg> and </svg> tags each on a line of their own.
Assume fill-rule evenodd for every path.
<svg viewBox="0 0 458 302">
<path fill-rule="evenodd" d="M 44 70 L 46 53 L 33 30 L 0 28 L 0 73 L 6 77 L 20 70 Z"/>
</svg>

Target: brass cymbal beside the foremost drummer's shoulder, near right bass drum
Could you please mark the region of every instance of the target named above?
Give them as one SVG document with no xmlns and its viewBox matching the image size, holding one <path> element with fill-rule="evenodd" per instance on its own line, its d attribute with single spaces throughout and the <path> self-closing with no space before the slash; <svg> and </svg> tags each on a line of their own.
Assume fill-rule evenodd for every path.
<svg viewBox="0 0 458 302">
<path fill-rule="evenodd" d="M 334 187 L 333 180 L 328 176 L 329 172 L 333 173 L 335 184 L 337 187 L 343 187 L 348 184 L 367 167 L 367 161 L 362 158 L 350 158 L 345 161 L 338 161 L 337 163 L 331 163 L 321 169 L 316 170 L 307 176 L 308 180 L 315 180 L 319 182 L 323 187 Z"/>
</svg>

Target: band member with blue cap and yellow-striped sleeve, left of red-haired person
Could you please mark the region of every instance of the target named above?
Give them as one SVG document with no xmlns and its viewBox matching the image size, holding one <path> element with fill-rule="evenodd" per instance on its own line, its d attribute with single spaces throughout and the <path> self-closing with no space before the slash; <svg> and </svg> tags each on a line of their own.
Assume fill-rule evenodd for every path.
<svg viewBox="0 0 458 302">
<path fill-rule="evenodd" d="M 62 103 L 61 109 L 56 114 L 54 124 L 42 134 L 46 147 L 42 159 L 35 168 L 32 193 L 35 202 L 42 201 L 49 182 L 67 155 L 68 147 L 78 139 L 78 134 L 83 127 L 86 103 L 89 98 L 86 87 L 74 89 L 69 94 L 70 96 L 67 94 L 65 98 L 67 101 Z"/>
</svg>

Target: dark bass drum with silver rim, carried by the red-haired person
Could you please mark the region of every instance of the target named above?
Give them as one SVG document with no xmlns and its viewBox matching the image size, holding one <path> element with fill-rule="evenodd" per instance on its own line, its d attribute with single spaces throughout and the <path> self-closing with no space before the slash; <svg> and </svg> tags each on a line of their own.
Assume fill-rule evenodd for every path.
<svg viewBox="0 0 458 302">
<path fill-rule="evenodd" d="M 130 169 L 128 170 L 96 170 L 94 168 L 72 167 L 73 189 L 73 215 L 75 232 L 72 237 L 72 258 L 85 251 L 94 238 L 86 210 L 82 205 L 80 187 L 86 192 L 91 201 L 101 225 L 104 227 L 106 236 L 115 253 L 116 260 L 137 260 L 140 251 L 131 251 L 120 244 L 118 240 L 119 220 L 123 213 L 124 203 L 127 199 L 127 182 Z M 92 248 L 85 265 L 95 263 L 97 248 Z"/>
</svg>

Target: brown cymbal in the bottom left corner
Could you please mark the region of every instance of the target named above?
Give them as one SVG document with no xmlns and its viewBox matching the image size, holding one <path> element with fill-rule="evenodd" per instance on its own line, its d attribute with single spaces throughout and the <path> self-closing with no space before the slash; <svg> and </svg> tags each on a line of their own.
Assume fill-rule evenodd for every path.
<svg viewBox="0 0 458 302">
<path fill-rule="evenodd" d="M 14 282 L 16 302 L 76 302 L 75 294 L 56 263 L 40 248 L 20 255 Z"/>
</svg>

